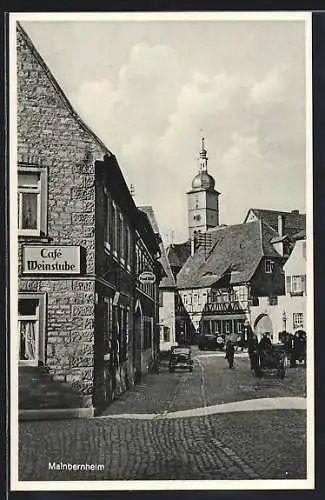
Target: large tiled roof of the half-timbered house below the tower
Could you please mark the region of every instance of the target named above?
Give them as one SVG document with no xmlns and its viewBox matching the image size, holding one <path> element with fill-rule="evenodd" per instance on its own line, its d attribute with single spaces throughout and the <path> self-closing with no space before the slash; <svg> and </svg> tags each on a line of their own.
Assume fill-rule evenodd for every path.
<svg viewBox="0 0 325 500">
<path fill-rule="evenodd" d="M 261 258 L 281 258 L 270 243 L 277 233 L 261 221 L 209 231 L 209 246 L 201 245 L 177 275 L 179 288 L 209 287 L 227 276 L 229 284 L 248 282 Z"/>
</svg>

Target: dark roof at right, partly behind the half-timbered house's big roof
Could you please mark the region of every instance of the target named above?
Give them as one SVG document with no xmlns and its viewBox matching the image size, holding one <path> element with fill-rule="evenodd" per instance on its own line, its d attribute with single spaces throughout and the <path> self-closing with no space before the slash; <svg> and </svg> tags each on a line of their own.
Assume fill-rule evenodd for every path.
<svg viewBox="0 0 325 500">
<path fill-rule="evenodd" d="M 298 231 L 306 228 L 306 214 L 300 214 L 298 211 L 281 212 L 279 210 L 266 210 L 261 208 L 251 208 L 248 213 L 250 211 L 254 212 L 258 219 L 267 222 L 275 231 L 278 231 L 278 216 L 282 215 L 284 218 L 283 234 L 287 234 L 288 236 L 292 236 Z"/>
</svg>

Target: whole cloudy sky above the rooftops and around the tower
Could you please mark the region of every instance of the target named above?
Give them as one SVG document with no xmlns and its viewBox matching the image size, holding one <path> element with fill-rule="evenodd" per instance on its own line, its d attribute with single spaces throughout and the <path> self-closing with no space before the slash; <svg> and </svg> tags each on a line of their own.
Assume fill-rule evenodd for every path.
<svg viewBox="0 0 325 500">
<path fill-rule="evenodd" d="M 220 223 L 305 211 L 302 21 L 22 21 L 166 243 L 188 237 L 201 137 Z"/>
</svg>

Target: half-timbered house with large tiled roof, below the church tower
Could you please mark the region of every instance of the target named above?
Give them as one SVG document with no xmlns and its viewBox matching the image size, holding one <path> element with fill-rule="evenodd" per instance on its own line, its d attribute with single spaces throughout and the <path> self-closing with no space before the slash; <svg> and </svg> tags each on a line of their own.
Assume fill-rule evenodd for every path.
<svg viewBox="0 0 325 500">
<path fill-rule="evenodd" d="M 177 275 L 177 319 L 188 331 L 240 336 L 259 299 L 284 294 L 284 258 L 262 221 L 211 229 Z"/>
</svg>

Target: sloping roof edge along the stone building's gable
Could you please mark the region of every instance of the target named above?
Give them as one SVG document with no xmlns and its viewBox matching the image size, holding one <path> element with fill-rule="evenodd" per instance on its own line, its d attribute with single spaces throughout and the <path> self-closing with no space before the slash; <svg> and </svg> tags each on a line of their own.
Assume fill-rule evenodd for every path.
<svg viewBox="0 0 325 500">
<path fill-rule="evenodd" d="M 108 147 L 104 144 L 104 142 L 91 130 L 88 125 L 83 121 L 83 119 L 79 116 L 79 114 L 75 111 L 75 109 L 72 107 L 70 100 L 68 97 L 65 95 L 63 89 L 59 85 L 57 79 L 55 78 L 54 74 L 46 64 L 45 60 L 35 47 L 32 39 L 29 37 L 27 34 L 26 30 L 23 28 L 23 26 L 20 24 L 19 21 L 16 22 L 17 25 L 17 31 L 20 31 L 20 33 L 23 35 L 25 42 L 31 51 L 32 55 L 36 58 L 38 63 L 41 65 L 43 71 L 45 72 L 46 76 L 49 79 L 50 84 L 54 87 L 54 90 L 57 92 L 58 96 L 60 97 L 62 103 L 66 106 L 68 111 L 71 113 L 72 117 L 77 121 L 77 123 L 84 129 L 85 132 L 87 132 L 89 135 L 93 137 L 93 139 L 100 145 L 101 148 L 105 150 L 105 153 L 112 156 L 113 153 L 108 149 Z"/>
</svg>

